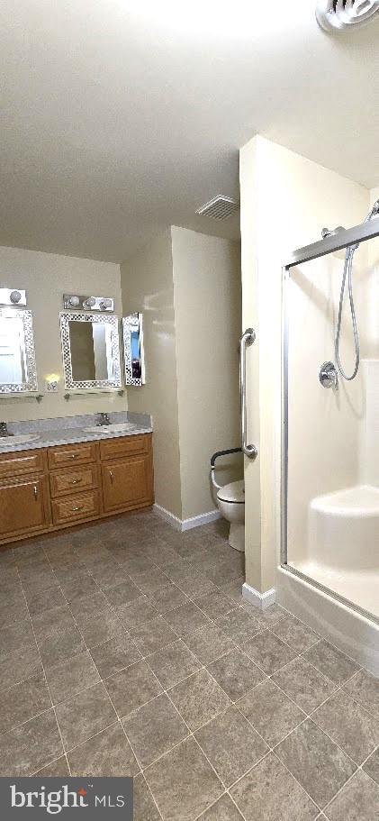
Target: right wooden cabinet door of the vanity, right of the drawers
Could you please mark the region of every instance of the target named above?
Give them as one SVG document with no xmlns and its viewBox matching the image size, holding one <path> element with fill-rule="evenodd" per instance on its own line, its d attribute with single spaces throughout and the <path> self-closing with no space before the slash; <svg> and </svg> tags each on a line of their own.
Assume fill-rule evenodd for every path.
<svg viewBox="0 0 379 821">
<path fill-rule="evenodd" d="M 104 512 L 152 504 L 152 464 L 149 453 L 102 465 Z"/>
</svg>

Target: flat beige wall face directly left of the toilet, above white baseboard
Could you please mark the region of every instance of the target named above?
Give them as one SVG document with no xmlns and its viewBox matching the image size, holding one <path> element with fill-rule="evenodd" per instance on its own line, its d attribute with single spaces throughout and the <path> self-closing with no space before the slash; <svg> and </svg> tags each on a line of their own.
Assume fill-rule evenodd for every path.
<svg viewBox="0 0 379 821">
<path fill-rule="evenodd" d="M 239 446 L 239 242 L 172 228 L 183 518 L 214 507 L 212 453 Z M 236 464 L 237 461 L 237 464 Z M 231 464 L 236 464 L 232 470 Z M 220 461 L 217 479 L 242 477 Z"/>
</svg>

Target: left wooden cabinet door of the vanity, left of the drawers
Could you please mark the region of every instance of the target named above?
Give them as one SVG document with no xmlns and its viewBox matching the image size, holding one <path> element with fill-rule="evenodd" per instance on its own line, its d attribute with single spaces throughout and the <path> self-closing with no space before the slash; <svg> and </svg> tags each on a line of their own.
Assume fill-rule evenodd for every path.
<svg viewBox="0 0 379 821">
<path fill-rule="evenodd" d="M 0 540 L 32 535 L 49 525 L 46 479 L 9 479 L 0 483 Z"/>
</svg>

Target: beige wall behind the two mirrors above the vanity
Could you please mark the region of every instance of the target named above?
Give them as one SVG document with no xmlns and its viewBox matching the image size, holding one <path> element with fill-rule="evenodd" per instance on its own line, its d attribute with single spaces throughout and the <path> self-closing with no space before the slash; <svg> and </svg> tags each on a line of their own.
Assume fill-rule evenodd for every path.
<svg viewBox="0 0 379 821">
<path fill-rule="evenodd" d="M 65 393 L 59 333 L 59 312 L 64 293 L 113 296 L 115 313 L 122 316 L 120 266 L 112 262 L 81 260 L 39 251 L 0 248 L 0 283 L 3 287 L 26 288 L 32 311 L 39 389 L 45 392 L 45 378 L 60 376 L 59 392 L 45 394 L 41 404 L 33 398 L 1 398 L 0 418 L 6 421 L 41 419 L 50 416 L 124 411 L 126 396 L 117 394 L 78 395 L 69 402 Z"/>
</svg>

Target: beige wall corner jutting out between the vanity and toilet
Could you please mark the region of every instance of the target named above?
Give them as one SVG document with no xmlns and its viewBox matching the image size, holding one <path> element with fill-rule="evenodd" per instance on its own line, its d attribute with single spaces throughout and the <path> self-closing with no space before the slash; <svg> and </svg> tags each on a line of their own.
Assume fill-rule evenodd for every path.
<svg viewBox="0 0 379 821">
<path fill-rule="evenodd" d="M 156 502 L 208 513 L 212 453 L 239 444 L 239 245 L 172 227 L 121 271 L 124 313 L 143 312 L 146 385 L 128 403 L 153 415 Z"/>
</svg>

